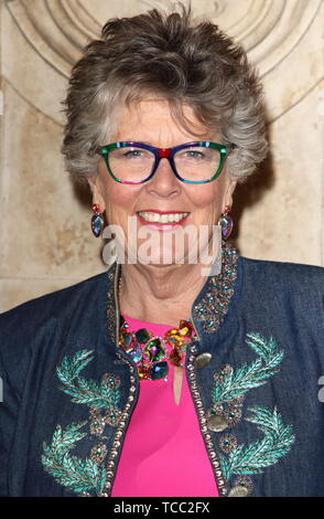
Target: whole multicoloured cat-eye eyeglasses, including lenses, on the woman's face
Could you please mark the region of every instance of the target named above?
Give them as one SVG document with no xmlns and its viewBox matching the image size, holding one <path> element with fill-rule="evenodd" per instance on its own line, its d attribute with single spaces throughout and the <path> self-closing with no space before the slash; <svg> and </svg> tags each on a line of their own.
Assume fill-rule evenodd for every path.
<svg viewBox="0 0 324 519">
<path fill-rule="evenodd" d="M 148 182 L 160 160 L 168 159 L 175 177 L 186 183 L 206 183 L 222 171 L 231 147 L 217 142 L 186 142 L 173 148 L 155 148 L 142 142 L 114 142 L 94 150 L 106 162 L 109 174 L 121 183 Z"/>
</svg>

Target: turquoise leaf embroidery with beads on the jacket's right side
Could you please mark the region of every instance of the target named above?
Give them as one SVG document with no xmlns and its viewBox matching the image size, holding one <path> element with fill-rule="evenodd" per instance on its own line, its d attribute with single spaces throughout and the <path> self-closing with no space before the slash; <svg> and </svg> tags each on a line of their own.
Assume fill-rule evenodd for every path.
<svg viewBox="0 0 324 519">
<path fill-rule="evenodd" d="M 237 423 L 241 417 L 245 394 L 267 383 L 279 371 L 283 352 L 278 350 L 272 337 L 267 340 L 260 333 L 247 333 L 246 342 L 258 353 L 259 359 L 251 364 L 244 363 L 237 370 L 227 364 L 215 373 L 212 407 L 207 412 L 212 431 L 222 432 Z M 262 473 L 263 468 L 276 464 L 295 441 L 292 426 L 284 425 L 277 407 L 271 411 L 255 406 L 248 411 L 252 414 L 245 420 L 257 424 L 264 434 L 262 439 L 245 446 L 238 445 L 234 434 L 226 433 L 219 438 L 223 453 L 218 455 L 218 460 L 223 477 L 228 483 L 231 476 L 240 476 L 235 480 L 229 497 L 250 494 L 252 481 L 248 475 Z"/>
</svg>

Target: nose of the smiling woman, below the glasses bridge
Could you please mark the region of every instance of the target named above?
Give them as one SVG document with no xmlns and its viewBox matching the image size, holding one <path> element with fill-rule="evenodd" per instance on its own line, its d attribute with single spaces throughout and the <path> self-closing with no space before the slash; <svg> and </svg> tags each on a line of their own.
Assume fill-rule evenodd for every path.
<svg viewBox="0 0 324 519">
<path fill-rule="evenodd" d="M 175 177 L 166 157 L 161 157 L 153 178 L 147 183 L 149 192 L 162 198 L 174 197 L 181 191 L 181 181 Z"/>
</svg>

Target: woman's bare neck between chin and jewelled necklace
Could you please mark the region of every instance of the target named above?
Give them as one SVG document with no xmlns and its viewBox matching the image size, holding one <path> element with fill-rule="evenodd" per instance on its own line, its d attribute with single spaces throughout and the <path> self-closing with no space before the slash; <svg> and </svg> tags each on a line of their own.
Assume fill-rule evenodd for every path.
<svg viewBox="0 0 324 519">
<path fill-rule="evenodd" d="M 191 317 L 192 305 L 205 280 L 199 264 L 125 264 L 120 311 L 134 319 L 177 327 L 181 319 Z"/>
</svg>

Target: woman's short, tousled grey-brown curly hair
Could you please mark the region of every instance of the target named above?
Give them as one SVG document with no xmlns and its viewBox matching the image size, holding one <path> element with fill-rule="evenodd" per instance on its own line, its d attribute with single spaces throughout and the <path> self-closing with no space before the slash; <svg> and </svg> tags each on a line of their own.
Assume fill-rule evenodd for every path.
<svg viewBox="0 0 324 519">
<path fill-rule="evenodd" d="M 156 93 L 186 129 L 184 103 L 223 144 L 234 145 L 230 178 L 245 180 L 264 159 L 262 87 L 245 51 L 210 21 L 194 22 L 191 9 L 180 8 L 109 20 L 74 65 L 62 152 L 76 179 L 95 173 L 98 157 L 90 151 L 107 144 L 114 106 Z"/>
</svg>

